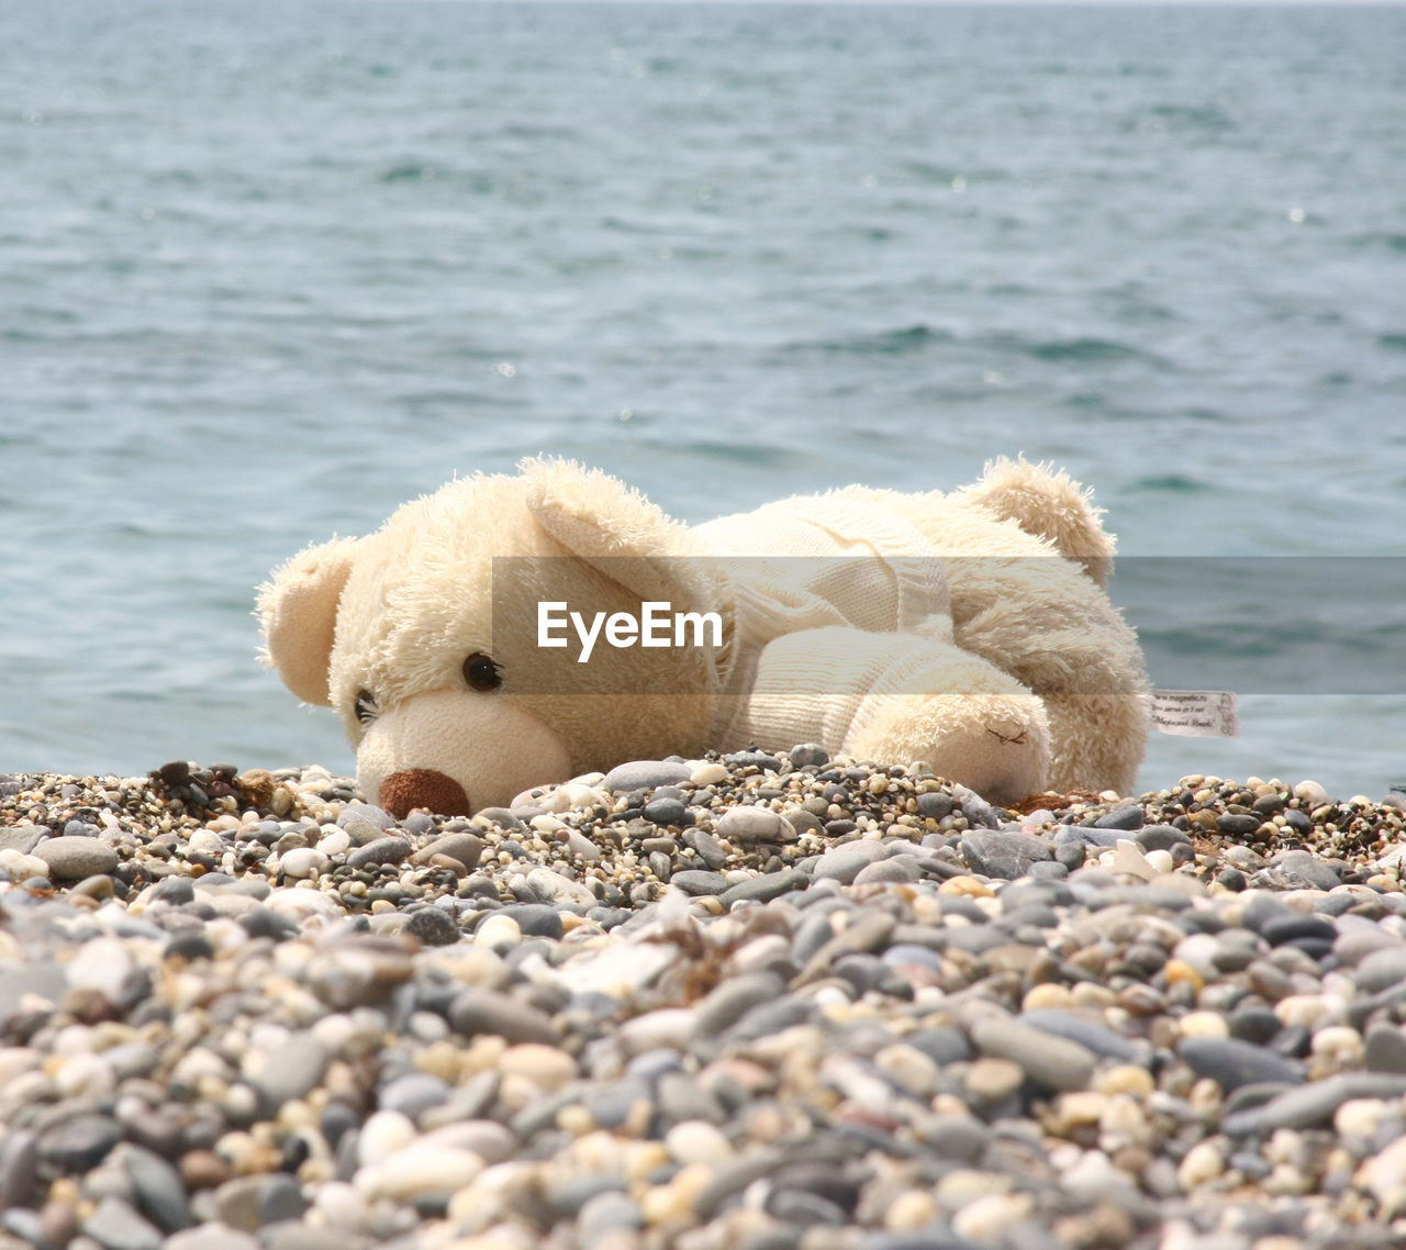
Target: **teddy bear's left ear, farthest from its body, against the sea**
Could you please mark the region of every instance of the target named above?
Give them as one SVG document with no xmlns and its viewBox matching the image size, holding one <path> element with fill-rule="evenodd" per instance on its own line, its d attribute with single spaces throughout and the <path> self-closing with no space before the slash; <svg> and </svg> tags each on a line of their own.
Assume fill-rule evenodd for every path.
<svg viewBox="0 0 1406 1250">
<path fill-rule="evenodd" d="M 292 557 L 259 588 L 263 659 L 304 703 L 329 706 L 328 666 L 337 603 L 356 558 L 357 539 L 333 539 Z"/>
</svg>

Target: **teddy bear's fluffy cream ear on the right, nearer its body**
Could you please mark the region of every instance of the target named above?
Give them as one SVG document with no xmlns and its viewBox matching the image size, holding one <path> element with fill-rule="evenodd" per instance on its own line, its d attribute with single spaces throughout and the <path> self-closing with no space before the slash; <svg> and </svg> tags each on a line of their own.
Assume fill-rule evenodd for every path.
<svg viewBox="0 0 1406 1250">
<path fill-rule="evenodd" d="M 524 460 L 527 510 L 574 555 L 641 600 L 686 600 L 688 527 L 638 491 L 569 460 Z"/>
</svg>

